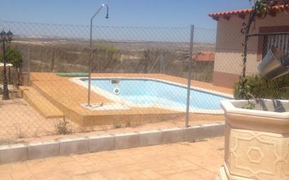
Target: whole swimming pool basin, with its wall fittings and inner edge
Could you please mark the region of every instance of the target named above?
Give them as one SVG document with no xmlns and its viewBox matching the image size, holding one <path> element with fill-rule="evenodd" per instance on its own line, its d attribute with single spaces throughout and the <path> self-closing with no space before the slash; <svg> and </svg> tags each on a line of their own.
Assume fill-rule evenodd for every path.
<svg viewBox="0 0 289 180">
<path fill-rule="evenodd" d="M 78 78 L 78 81 L 87 87 L 88 78 Z M 100 95 L 128 106 L 186 110 L 186 85 L 152 78 L 92 78 L 91 85 Z M 220 101 L 224 99 L 231 97 L 191 88 L 190 111 L 220 113 Z"/>
</svg>

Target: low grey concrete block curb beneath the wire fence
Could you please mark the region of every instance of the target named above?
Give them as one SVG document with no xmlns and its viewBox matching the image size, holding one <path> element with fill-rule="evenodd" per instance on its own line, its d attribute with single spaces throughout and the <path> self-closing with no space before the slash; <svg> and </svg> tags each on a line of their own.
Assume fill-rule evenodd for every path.
<svg viewBox="0 0 289 180">
<path fill-rule="evenodd" d="M 0 164 L 74 153 L 111 151 L 179 141 L 193 141 L 223 135 L 224 123 L 210 123 L 194 125 L 189 128 L 173 127 L 162 130 L 102 134 L 29 144 L 11 144 L 0 146 Z"/>
</svg>

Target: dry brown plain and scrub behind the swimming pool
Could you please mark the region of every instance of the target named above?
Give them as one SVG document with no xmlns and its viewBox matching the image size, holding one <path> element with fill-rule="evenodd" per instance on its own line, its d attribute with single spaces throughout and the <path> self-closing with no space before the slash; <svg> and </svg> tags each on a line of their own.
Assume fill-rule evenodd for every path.
<svg viewBox="0 0 289 180">
<path fill-rule="evenodd" d="M 22 71 L 88 71 L 88 41 L 20 36 L 13 43 L 24 57 Z M 100 73 L 164 73 L 187 78 L 189 43 L 94 41 L 93 69 Z M 194 52 L 214 52 L 211 43 L 195 43 Z M 163 67 L 161 67 L 161 58 Z M 28 59 L 30 61 L 28 61 Z M 213 81 L 213 62 L 194 63 L 192 78 Z"/>
</svg>

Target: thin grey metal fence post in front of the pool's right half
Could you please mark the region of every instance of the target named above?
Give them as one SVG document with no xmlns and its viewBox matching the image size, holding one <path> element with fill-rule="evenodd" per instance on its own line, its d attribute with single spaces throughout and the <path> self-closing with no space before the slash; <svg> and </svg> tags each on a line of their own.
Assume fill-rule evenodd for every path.
<svg viewBox="0 0 289 180">
<path fill-rule="evenodd" d="M 189 40 L 189 71 L 188 71 L 188 83 L 187 83 L 187 110 L 186 110 L 186 125 L 185 127 L 189 127 L 189 97 L 191 91 L 191 62 L 192 62 L 192 55 L 193 55 L 193 46 L 194 46 L 194 25 L 191 25 L 191 37 Z"/>
</svg>

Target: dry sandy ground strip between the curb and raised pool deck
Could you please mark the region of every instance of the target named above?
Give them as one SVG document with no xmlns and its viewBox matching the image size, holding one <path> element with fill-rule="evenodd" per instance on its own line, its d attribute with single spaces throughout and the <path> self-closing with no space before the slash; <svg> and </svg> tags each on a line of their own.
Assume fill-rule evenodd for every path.
<svg viewBox="0 0 289 180">
<path fill-rule="evenodd" d="M 114 132 L 135 132 L 140 130 L 161 129 L 167 127 L 184 127 L 184 116 L 159 123 L 143 125 L 114 124 L 81 127 L 70 120 L 67 125 L 71 134 L 60 135 L 55 125 L 62 119 L 45 119 L 35 111 L 24 99 L 0 101 L 0 144 L 17 141 L 41 141 L 61 137 L 87 136 L 89 134 L 112 134 Z M 190 125 L 223 122 L 224 116 L 206 116 L 194 114 L 190 116 Z"/>
</svg>

